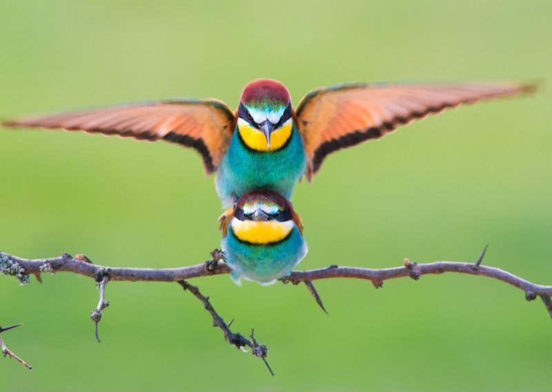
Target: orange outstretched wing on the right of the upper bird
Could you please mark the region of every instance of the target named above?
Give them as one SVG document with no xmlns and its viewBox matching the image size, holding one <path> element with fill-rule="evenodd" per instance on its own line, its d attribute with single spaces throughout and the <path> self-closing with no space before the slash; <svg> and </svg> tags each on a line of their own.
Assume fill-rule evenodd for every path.
<svg viewBox="0 0 552 392">
<path fill-rule="evenodd" d="M 534 92 L 532 84 L 342 84 L 309 92 L 297 106 L 307 177 L 326 155 L 378 139 L 415 119 L 480 99 Z"/>
</svg>

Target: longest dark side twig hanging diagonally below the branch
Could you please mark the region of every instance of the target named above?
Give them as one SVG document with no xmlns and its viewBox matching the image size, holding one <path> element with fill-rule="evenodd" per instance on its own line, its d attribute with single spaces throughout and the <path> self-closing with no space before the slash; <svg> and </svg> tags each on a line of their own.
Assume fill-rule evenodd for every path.
<svg viewBox="0 0 552 392">
<path fill-rule="evenodd" d="M 221 315 L 219 315 L 219 313 L 215 311 L 215 308 L 213 308 L 213 305 L 211 305 L 211 303 L 209 302 L 209 297 L 201 294 L 197 286 L 189 284 L 188 282 L 186 282 L 186 280 L 181 280 L 178 282 L 178 284 L 180 284 L 180 286 L 182 286 L 184 290 L 190 291 L 190 293 L 192 293 L 198 300 L 203 302 L 206 311 L 208 311 L 211 317 L 213 317 L 213 326 L 222 330 L 222 332 L 224 333 L 224 339 L 226 339 L 228 343 L 236 346 L 237 349 L 243 349 L 245 346 L 248 346 L 251 349 L 251 353 L 255 355 L 255 357 L 261 358 L 268 367 L 268 371 L 270 371 L 270 374 L 274 375 L 272 369 L 270 369 L 270 366 L 268 365 L 268 362 L 266 362 L 268 348 L 264 344 L 259 344 L 259 342 L 257 342 L 255 337 L 253 336 L 253 331 L 251 332 L 252 340 L 248 340 L 248 338 L 241 333 L 232 332 L 230 330 L 230 324 L 232 324 L 232 322 L 226 324 Z"/>
</svg>

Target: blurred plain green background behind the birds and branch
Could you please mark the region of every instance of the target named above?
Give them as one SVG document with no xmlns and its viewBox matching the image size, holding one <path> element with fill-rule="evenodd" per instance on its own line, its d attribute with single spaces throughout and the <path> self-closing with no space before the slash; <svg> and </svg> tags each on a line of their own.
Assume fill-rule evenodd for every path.
<svg viewBox="0 0 552 392">
<path fill-rule="evenodd" d="M 0 3 L 0 117 L 166 97 L 237 106 L 272 77 L 295 104 L 342 81 L 552 78 L 552 3 L 524 1 L 19 1 Z M 300 268 L 473 261 L 552 284 L 552 99 L 465 106 L 331 155 L 293 202 Z M 219 245 L 213 177 L 192 150 L 0 130 L 0 248 L 167 267 Z M 3 391 L 549 391 L 552 322 L 540 301 L 481 277 L 193 281 L 233 328 L 255 327 L 276 377 L 226 344 L 177 284 L 114 282 L 95 342 L 94 282 L 0 277 L 0 324 L 28 360 Z"/>
</svg>

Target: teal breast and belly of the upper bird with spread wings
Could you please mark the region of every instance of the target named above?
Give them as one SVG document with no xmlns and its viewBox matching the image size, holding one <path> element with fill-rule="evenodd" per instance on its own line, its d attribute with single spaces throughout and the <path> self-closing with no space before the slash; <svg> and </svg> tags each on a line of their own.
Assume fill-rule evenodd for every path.
<svg viewBox="0 0 552 392">
<path fill-rule="evenodd" d="M 305 167 L 305 151 L 295 126 L 283 148 L 268 152 L 250 150 L 235 130 L 218 169 L 217 193 L 224 206 L 257 189 L 274 190 L 290 199 Z"/>
</svg>

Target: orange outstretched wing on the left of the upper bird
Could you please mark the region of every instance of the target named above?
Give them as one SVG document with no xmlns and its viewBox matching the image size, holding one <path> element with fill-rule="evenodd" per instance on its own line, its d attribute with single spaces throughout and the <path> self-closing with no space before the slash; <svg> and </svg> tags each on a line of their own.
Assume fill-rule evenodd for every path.
<svg viewBox="0 0 552 392">
<path fill-rule="evenodd" d="M 195 148 L 213 173 L 226 152 L 233 133 L 235 116 L 216 99 L 172 99 L 27 117 L 6 121 L 3 126 L 63 128 L 133 137 L 166 140 Z"/>
</svg>

